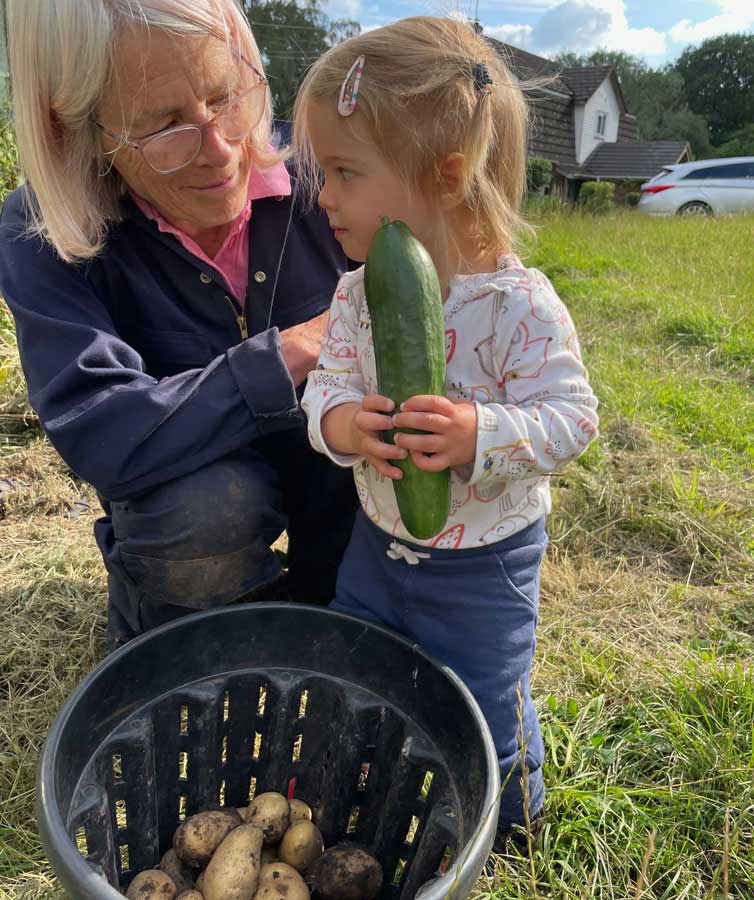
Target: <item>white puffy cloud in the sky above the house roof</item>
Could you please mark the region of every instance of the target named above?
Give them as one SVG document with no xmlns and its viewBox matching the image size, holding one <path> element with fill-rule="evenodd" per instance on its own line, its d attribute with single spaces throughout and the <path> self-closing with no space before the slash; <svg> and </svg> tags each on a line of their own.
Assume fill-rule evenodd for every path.
<svg viewBox="0 0 754 900">
<path fill-rule="evenodd" d="M 485 31 L 534 53 L 585 53 L 606 47 L 659 57 L 666 51 L 662 32 L 629 27 L 624 0 L 564 0 L 545 10 L 534 25 L 499 25 Z"/>
</svg>

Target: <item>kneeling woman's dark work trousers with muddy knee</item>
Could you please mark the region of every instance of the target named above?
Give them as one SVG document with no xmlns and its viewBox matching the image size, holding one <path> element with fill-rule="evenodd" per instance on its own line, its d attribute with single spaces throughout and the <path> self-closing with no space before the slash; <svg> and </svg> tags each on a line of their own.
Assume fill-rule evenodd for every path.
<svg viewBox="0 0 754 900">
<path fill-rule="evenodd" d="M 353 475 L 303 428 L 124 501 L 101 498 L 95 536 L 108 570 L 108 644 L 237 600 L 327 604 L 357 506 Z M 270 545 L 288 532 L 288 572 Z"/>
</svg>

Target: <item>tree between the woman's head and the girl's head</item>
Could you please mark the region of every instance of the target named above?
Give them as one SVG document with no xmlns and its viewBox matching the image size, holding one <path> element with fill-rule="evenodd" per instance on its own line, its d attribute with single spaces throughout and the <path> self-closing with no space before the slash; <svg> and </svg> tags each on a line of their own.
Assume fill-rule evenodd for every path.
<svg viewBox="0 0 754 900">
<path fill-rule="evenodd" d="M 351 19 L 331 21 L 319 0 L 243 0 L 259 45 L 278 117 L 290 116 L 307 68 L 329 47 L 359 34 Z"/>
</svg>

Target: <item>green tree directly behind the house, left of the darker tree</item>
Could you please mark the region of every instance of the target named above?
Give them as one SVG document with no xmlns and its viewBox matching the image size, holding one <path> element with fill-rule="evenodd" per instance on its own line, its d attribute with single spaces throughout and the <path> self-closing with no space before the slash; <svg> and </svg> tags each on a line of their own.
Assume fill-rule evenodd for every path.
<svg viewBox="0 0 754 900">
<path fill-rule="evenodd" d="M 696 157 L 710 155 L 707 121 L 689 109 L 683 79 L 672 66 L 653 69 L 622 50 L 562 53 L 556 61 L 565 68 L 615 66 L 628 111 L 637 118 L 640 140 L 688 141 Z"/>
</svg>

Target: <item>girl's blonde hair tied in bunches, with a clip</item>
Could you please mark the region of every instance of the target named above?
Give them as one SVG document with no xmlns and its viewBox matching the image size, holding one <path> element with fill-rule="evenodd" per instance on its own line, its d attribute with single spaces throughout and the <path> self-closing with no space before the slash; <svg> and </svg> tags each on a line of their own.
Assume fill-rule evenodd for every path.
<svg viewBox="0 0 754 900">
<path fill-rule="evenodd" d="M 463 154 L 462 203 L 482 246 L 510 250 L 528 231 L 520 206 L 526 184 L 528 107 L 503 59 L 470 24 L 415 16 L 353 37 L 309 69 L 294 107 L 293 147 L 301 180 L 315 193 L 318 169 L 307 135 L 313 104 L 336 108 L 343 81 L 365 57 L 356 111 L 378 152 L 409 189 L 437 183 L 451 153 Z M 482 84 L 484 69 L 491 84 Z"/>
</svg>

